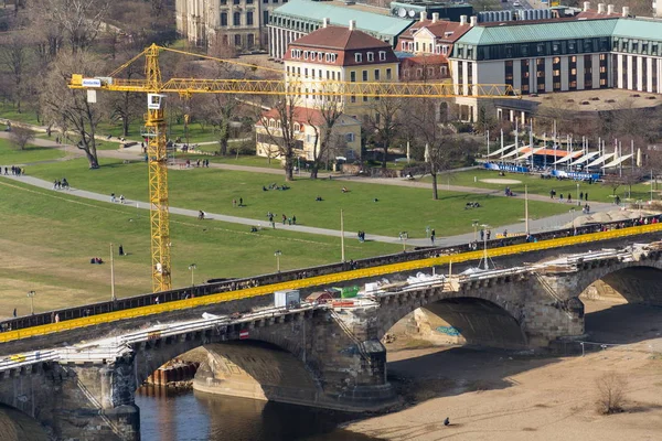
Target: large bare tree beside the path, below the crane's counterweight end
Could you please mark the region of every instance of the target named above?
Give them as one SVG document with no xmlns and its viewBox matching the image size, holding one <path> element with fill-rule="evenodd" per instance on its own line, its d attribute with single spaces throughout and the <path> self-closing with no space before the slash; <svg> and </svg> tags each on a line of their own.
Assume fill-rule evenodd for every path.
<svg viewBox="0 0 662 441">
<path fill-rule="evenodd" d="M 92 67 L 98 68 L 98 60 L 85 52 L 62 54 L 52 64 L 46 87 L 41 95 L 46 117 L 63 132 L 74 133 L 77 147 L 85 152 L 90 169 L 99 166 L 95 135 L 106 106 L 89 103 L 86 90 L 70 89 L 67 83 L 73 73 L 85 74 Z"/>
</svg>

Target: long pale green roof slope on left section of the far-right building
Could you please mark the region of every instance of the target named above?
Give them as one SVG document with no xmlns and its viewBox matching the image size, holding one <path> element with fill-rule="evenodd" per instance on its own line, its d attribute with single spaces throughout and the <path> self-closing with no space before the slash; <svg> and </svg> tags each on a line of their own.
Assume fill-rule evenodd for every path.
<svg viewBox="0 0 662 441">
<path fill-rule="evenodd" d="M 662 1 L 662 0 L 661 0 Z M 590 39 L 611 36 L 617 19 L 577 20 L 515 25 L 474 26 L 457 43 L 489 45 L 548 40 Z"/>
</svg>

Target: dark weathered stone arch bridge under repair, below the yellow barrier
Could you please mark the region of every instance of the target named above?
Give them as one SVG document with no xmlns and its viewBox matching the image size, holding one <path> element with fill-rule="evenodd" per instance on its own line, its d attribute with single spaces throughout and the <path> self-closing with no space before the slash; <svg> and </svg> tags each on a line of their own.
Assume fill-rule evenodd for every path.
<svg viewBox="0 0 662 441">
<path fill-rule="evenodd" d="M 160 318 L 72 331 L 65 348 L 47 338 L 0 362 L 0 402 L 39 420 L 54 439 L 137 440 L 135 390 L 166 362 L 209 348 L 201 389 L 344 410 L 378 409 L 396 398 L 386 379 L 384 334 L 419 308 L 463 330 L 472 343 L 546 346 L 584 333 L 579 295 L 601 280 L 632 302 L 662 304 L 656 245 L 588 252 L 545 263 L 384 287 L 354 304 L 265 309 L 167 322 Z M 228 302 L 229 303 L 229 302 Z M 245 306 L 245 305 L 244 305 Z M 55 346 L 55 347 L 54 347 Z M 253 383 L 246 383 L 252 377 Z M 256 387 L 256 384 L 258 387 Z"/>
</svg>

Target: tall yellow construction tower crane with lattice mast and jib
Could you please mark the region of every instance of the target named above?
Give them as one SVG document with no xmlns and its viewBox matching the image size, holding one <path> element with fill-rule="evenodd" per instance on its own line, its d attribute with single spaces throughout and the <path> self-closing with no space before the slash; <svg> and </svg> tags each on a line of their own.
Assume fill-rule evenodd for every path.
<svg viewBox="0 0 662 441">
<path fill-rule="evenodd" d="M 140 54 L 129 60 L 109 76 L 85 77 L 74 74 L 68 84 L 70 88 L 87 89 L 88 95 L 94 90 L 134 92 L 147 94 L 147 114 L 145 116 L 145 132 L 147 138 L 147 155 L 149 164 L 149 202 L 151 222 L 151 256 L 152 256 L 152 288 L 154 292 L 171 289 L 170 266 L 170 222 L 168 203 L 168 153 L 167 125 L 164 118 L 164 95 L 177 93 L 181 96 L 192 94 L 242 94 L 242 95 L 276 95 L 296 96 L 309 94 L 300 87 L 298 78 L 286 79 L 194 79 L 194 78 L 161 78 L 159 53 L 161 51 L 191 55 L 196 58 L 207 58 L 231 63 L 252 69 L 261 68 L 282 75 L 282 71 L 221 60 L 212 56 L 178 51 L 152 44 Z M 145 79 L 122 79 L 115 77 L 131 63 L 145 56 Z M 303 79 L 306 80 L 306 79 Z M 410 97 L 410 98 L 449 98 L 463 95 L 468 87 L 469 97 L 496 98 L 519 97 L 517 90 L 509 85 L 469 86 L 448 83 L 349 83 L 349 82 L 316 82 L 319 85 L 318 96 L 369 96 L 369 97 Z"/>
</svg>

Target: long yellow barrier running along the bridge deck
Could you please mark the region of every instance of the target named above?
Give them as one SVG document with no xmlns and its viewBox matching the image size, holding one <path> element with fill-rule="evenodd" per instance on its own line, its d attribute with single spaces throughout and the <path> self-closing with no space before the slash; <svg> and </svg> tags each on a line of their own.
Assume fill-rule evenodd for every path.
<svg viewBox="0 0 662 441">
<path fill-rule="evenodd" d="M 600 240 L 616 239 L 619 237 L 638 236 L 647 233 L 655 233 L 662 230 L 662 223 L 641 225 L 637 227 L 610 229 L 601 233 L 590 233 L 580 236 L 569 236 L 558 239 L 541 240 L 537 243 L 527 243 L 520 245 L 511 245 L 499 248 L 490 248 L 488 254 L 490 257 L 516 255 L 521 252 L 537 251 L 552 248 L 562 248 L 572 245 L 586 244 Z M 471 260 L 479 260 L 483 256 L 482 250 L 460 252 L 457 255 L 446 255 L 439 257 L 430 257 L 427 259 L 410 260 L 401 263 L 389 263 L 380 267 L 365 269 L 356 269 L 351 271 L 335 272 L 325 276 L 316 276 L 306 279 L 290 280 L 287 282 L 266 284 L 264 287 L 255 287 L 238 291 L 222 292 L 186 300 L 177 300 L 168 303 L 153 304 L 149 306 L 139 306 L 130 310 L 116 312 L 107 312 L 87 318 L 66 320 L 60 323 L 45 324 L 22 330 L 8 331 L 0 333 L 0 343 L 11 342 L 15 340 L 28 338 L 38 335 L 46 335 L 62 331 L 75 330 L 78 327 L 92 326 L 103 323 L 111 323 L 126 319 L 135 319 L 152 314 L 159 314 L 171 311 L 180 311 L 195 306 L 204 306 L 206 304 L 227 302 L 232 300 L 247 299 L 257 295 L 273 293 L 278 290 L 300 289 L 317 286 L 327 286 L 349 280 L 364 279 L 371 277 L 385 276 L 401 271 L 413 271 L 434 266 L 448 265 L 449 262 L 459 263 Z"/>
</svg>

